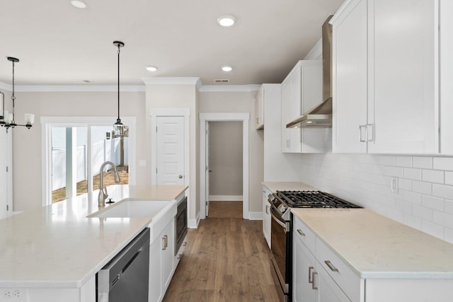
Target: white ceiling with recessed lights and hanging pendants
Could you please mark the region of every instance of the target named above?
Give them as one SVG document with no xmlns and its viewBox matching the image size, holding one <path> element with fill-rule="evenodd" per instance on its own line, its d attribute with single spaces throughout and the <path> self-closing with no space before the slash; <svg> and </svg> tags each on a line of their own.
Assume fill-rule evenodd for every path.
<svg viewBox="0 0 453 302">
<path fill-rule="evenodd" d="M 1 0 L 0 82 L 16 85 L 95 85 L 142 77 L 197 76 L 230 84 L 280 83 L 321 38 L 321 25 L 343 0 Z M 217 18 L 236 24 L 222 28 Z M 220 66 L 233 66 L 226 73 Z M 154 65 L 159 71 L 145 69 Z"/>
</svg>

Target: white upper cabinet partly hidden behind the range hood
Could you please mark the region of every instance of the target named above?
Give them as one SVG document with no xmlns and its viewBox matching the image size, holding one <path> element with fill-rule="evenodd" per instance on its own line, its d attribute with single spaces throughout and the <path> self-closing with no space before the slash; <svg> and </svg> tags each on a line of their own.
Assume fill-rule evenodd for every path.
<svg viewBox="0 0 453 302">
<path fill-rule="evenodd" d="M 322 102 L 321 61 L 299 61 L 282 82 L 282 152 L 331 151 L 331 128 L 287 129 L 286 124 Z"/>
</svg>

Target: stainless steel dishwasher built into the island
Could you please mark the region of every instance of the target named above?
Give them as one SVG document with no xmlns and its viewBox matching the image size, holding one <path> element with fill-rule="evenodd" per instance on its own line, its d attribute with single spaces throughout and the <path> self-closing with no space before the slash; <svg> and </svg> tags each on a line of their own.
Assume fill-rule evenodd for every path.
<svg viewBox="0 0 453 302">
<path fill-rule="evenodd" d="M 147 302 L 149 228 L 139 233 L 98 272 L 98 302 Z"/>
</svg>

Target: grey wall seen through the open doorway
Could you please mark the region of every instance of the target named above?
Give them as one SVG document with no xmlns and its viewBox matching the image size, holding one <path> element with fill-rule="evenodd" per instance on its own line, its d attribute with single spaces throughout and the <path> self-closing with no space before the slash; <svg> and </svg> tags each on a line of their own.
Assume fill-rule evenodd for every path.
<svg viewBox="0 0 453 302">
<path fill-rule="evenodd" d="M 242 195 L 242 122 L 210 122 L 210 195 Z"/>
</svg>

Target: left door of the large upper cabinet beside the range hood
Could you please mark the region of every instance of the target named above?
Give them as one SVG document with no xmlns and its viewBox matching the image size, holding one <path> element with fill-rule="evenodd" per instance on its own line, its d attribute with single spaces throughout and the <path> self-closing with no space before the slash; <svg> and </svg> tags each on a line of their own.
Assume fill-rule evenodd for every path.
<svg viewBox="0 0 453 302">
<path fill-rule="evenodd" d="M 333 21 L 332 42 L 333 152 L 366 153 L 367 0 L 351 1 Z"/>
</svg>

